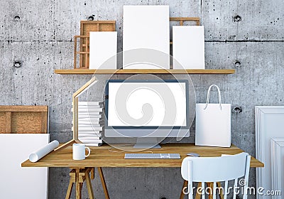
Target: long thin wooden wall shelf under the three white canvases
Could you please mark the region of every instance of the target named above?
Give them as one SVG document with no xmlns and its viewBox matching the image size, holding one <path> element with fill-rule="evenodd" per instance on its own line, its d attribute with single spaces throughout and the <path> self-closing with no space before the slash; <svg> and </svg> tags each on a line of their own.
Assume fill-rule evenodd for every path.
<svg viewBox="0 0 284 199">
<path fill-rule="evenodd" d="M 62 69 L 55 70 L 56 74 L 234 74 L 234 69 L 187 69 L 187 70 L 163 70 L 163 69 L 125 69 L 125 70 L 89 70 L 89 69 Z"/>
</svg>

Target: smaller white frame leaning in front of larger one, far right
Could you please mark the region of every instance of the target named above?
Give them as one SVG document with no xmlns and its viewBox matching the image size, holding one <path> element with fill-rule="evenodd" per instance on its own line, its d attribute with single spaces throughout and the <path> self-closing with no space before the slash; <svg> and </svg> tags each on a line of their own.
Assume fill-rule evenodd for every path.
<svg viewBox="0 0 284 199">
<path fill-rule="evenodd" d="M 284 138 L 271 139 L 271 190 L 281 190 L 281 150 L 284 149 Z M 281 195 L 272 195 L 273 199 L 281 199 Z"/>
</svg>

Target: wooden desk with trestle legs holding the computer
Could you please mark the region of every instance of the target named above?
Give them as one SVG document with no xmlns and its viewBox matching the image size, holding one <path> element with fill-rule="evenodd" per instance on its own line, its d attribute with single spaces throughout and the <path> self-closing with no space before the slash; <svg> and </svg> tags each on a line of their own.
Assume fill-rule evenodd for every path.
<svg viewBox="0 0 284 199">
<path fill-rule="evenodd" d="M 119 144 L 120 146 L 122 144 Z M 73 172 L 76 173 L 76 198 L 79 199 L 81 196 L 80 186 L 82 188 L 82 181 L 80 182 L 80 171 L 87 168 L 97 167 L 99 169 L 99 174 L 101 177 L 102 185 L 104 187 L 104 193 L 106 198 L 109 198 L 107 192 L 107 186 L 104 182 L 104 176 L 102 173 L 102 167 L 181 167 L 182 159 L 185 158 L 190 152 L 200 154 L 202 157 L 212 157 L 212 156 L 221 156 L 222 154 L 239 154 L 244 152 L 238 147 L 231 145 L 230 148 L 222 147 L 209 147 L 209 146 L 195 146 L 195 144 L 161 144 L 161 149 L 148 149 L 142 151 L 141 153 L 147 153 L 152 151 L 153 153 L 160 154 L 180 154 L 180 159 L 124 159 L 125 153 L 133 153 L 127 151 L 119 151 L 118 149 L 111 148 L 111 146 L 104 144 L 99 147 L 90 147 L 91 154 L 83 161 L 74 161 L 72 159 L 72 147 L 68 146 L 61 151 L 53 151 L 40 161 L 32 163 L 30 161 L 25 161 L 22 163 L 23 167 L 69 167 L 75 168 Z M 117 153 L 109 151 L 118 151 Z M 129 149 L 133 150 L 132 146 L 123 146 L 121 147 L 124 150 Z M 251 157 L 251 167 L 263 167 L 264 164 L 261 161 L 256 160 L 256 158 Z M 87 177 L 88 178 L 88 177 Z M 88 180 L 88 179 L 87 179 Z M 71 182 L 71 181 L 70 181 Z M 80 184 L 81 183 L 81 184 Z M 87 182 L 88 183 L 88 182 Z M 87 185 L 88 187 L 89 185 Z M 70 187 L 69 187 L 70 188 Z M 69 190 L 68 188 L 68 190 Z M 71 187 L 72 188 L 72 187 Z M 92 188 L 92 186 L 91 186 Z M 89 189 L 88 189 L 89 190 Z M 89 190 L 89 195 L 91 190 Z M 92 198 L 92 196 L 90 196 Z"/>
</svg>

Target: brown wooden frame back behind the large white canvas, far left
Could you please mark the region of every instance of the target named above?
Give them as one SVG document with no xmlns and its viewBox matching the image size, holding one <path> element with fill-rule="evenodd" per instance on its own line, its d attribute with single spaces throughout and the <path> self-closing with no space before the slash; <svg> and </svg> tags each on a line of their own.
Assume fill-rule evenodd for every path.
<svg viewBox="0 0 284 199">
<path fill-rule="evenodd" d="M 0 133 L 48 133 L 48 106 L 0 106 Z"/>
</svg>

